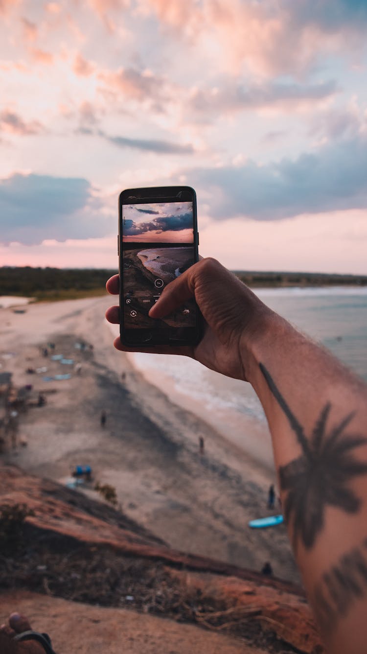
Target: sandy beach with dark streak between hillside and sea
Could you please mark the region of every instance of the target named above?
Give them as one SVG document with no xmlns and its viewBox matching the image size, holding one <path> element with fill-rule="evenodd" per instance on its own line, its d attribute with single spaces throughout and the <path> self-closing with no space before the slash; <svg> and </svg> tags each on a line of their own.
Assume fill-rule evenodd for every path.
<svg viewBox="0 0 367 654">
<path fill-rule="evenodd" d="M 17 387 L 32 384 L 35 400 L 40 391 L 56 389 L 46 405 L 20 415 L 19 436 L 28 445 L 8 450 L 3 460 L 61 483 L 76 464 L 89 464 L 96 481 L 114 486 L 126 515 L 171 547 L 258 571 L 269 560 L 275 576 L 299 582 L 285 527 L 247 525 L 271 513 L 266 500 L 273 472 L 224 439 L 195 407 L 175 404 L 114 350 L 104 319 L 109 305 L 111 298 L 103 296 L 37 303 L 24 314 L 0 309 L 0 356 L 8 355 L 0 358 L 0 371 L 11 371 Z M 43 356 L 48 341 L 56 343 L 56 354 L 80 362 L 80 375 Z M 92 348 L 75 349 L 80 341 Z M 42 366 L 46 375 L 72 377 L 45 382 L 42 373 L 26 373 Z M 249 433 L 256 438 L 251 419 Z M 93 484 L 83 492 L 99 497 Z"/>
</svg>

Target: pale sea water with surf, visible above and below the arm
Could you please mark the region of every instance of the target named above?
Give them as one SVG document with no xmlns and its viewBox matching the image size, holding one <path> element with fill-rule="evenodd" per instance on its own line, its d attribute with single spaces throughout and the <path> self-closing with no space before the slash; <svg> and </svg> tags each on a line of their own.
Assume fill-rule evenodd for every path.
<svg viewBox="0 0 367 654">
<path fill-rule="evenodd" d="M 260 288 L 255 292 L 367 381 L 366 287 Z M 266 418 L 249 384 L 207 370 L 184 356 L 133 353 L 129 357 L 173 402 L 198 413 L 224 438 L 272 466 Z"/>
</svg>

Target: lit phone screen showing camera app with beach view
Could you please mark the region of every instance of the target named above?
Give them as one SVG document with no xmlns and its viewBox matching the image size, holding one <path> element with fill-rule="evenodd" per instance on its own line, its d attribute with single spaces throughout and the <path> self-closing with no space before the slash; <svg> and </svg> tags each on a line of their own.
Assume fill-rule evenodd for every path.
<svg viewBox="0 0 367 654">
<path fill-rule="evenodd" d="M 195 263 L 192 202 L 128 204 L 122 211 L 125 328 L 195 327 L 193 300 L 162 320 L 148 315 L 167 284 Z"/>
</svg>

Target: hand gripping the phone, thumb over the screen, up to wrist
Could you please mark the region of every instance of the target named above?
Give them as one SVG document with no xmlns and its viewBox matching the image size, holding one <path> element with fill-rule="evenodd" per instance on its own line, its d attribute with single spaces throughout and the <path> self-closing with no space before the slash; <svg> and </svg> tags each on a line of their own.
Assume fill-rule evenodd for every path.
<svg viewBox="0 0 367 654">
<path fill-rule="evenodd" d="M 106 288 L 119 292 L 119 278 L 114 275 Z M 272 312 L 245 284 L 215 259 L 202 259 L 168 284 L 160 299 L 149 311 L 151 318 L 163 318 L 194 296 L 205 320 L 203 337 L 194 347 L 125 347 L 120 337 L 114 347 L 123 352 L 184 354 L 202 364 L 236 379 L 246 379 L 246 353 L 251 341 L 264 327 Z M 120 322 L 119 307 L 106 311 L 109 322 Z"/>
</svg>

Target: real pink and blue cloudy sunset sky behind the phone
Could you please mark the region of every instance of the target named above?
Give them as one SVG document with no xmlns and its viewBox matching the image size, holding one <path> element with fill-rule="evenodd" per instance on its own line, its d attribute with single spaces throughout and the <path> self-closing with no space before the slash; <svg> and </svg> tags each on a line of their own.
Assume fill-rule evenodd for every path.
<svg viewBox="0 0 367 654">
<path fill-rule="evenodd" d="M 366 0 L 0 0 L 0 266 L 117 268 L 196 190 L 230 269 L 367 274 Z"/>
</svg>

